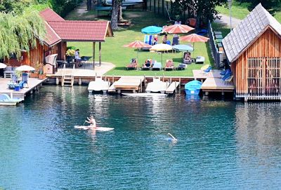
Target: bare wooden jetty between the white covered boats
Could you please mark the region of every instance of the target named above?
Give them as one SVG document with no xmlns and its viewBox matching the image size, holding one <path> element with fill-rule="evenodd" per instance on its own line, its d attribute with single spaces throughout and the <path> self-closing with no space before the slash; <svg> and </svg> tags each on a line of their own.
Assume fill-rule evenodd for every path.
<svg viewBox="0 0 281 190">
<path fill-rule="evenodd" d="M 122 76 L 110 86 L 108 92 L 121 93 L 122 90 L 132 90 L 133 93 L 136 93 L 138 90 L 142 90 L 144 79 L 144 76 Z"/>
</svg>

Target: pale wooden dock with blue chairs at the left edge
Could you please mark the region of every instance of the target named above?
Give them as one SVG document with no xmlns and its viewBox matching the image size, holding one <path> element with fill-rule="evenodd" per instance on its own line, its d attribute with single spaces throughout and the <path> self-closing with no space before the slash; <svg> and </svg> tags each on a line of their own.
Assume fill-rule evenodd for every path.
<svg viewBox="0 0 281 190">
<path fill-rule="evenodd" d="M 28 79 L 28 87 L 29 88 L 22 88 L 20 91 L 15 91 L 13 89 L 8 89 L 8 82 L 11 81 L 11 79 L 8 78 L 0 78 L 0 94 L 7 94 L 10 97 L 17 97 L 22 100 L 25 100 L 25 96 L 27 93 L 33 93 L 33 90 L 38 90 L 39 86 L 41 86 L 41 83 L 46 81 L 47 79 L 35 79 L 35 78 L 29 78 Z"/>
</svg>

